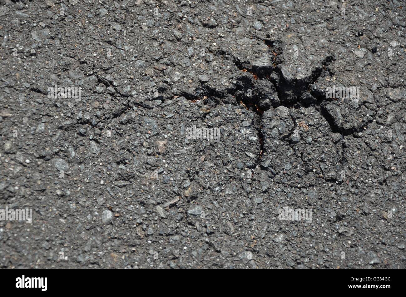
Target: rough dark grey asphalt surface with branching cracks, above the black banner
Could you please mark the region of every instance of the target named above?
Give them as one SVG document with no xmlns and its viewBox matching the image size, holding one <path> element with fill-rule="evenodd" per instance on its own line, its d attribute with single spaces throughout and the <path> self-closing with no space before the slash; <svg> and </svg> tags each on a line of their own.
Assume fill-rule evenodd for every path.
<svg viewBox="0 0 406 297">
<path fill-rule="evenodd" d="M 405 24 L 397 0 L 0 0 L 0 209 L 33 211 L 0 217 L 0 267 L 405 268 Z"/>
</svg>

